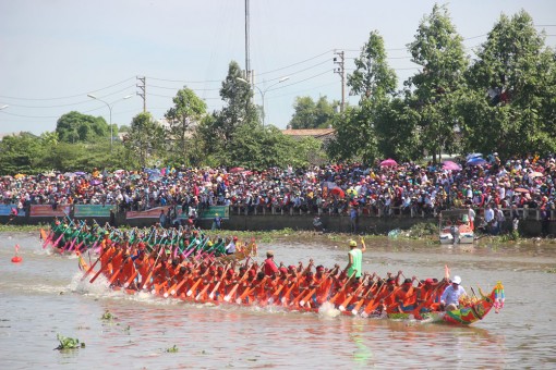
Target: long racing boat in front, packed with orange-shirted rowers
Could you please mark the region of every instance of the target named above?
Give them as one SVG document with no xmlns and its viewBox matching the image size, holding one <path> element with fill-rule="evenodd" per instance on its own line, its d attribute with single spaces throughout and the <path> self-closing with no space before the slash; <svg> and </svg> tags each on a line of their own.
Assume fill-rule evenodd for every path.
<svg viewBox="0 0 556 370">
<path fill-rule="evenodd" d="M 449 285 L 447 279 L 436 283 L 427 279 L 418 282 L 416 286 L 411 285 L 409 289 L 406 288 L 407 292 L 414 289 L 407 295 L 409 300 L 398 304 L 392 298 L 403 297 L 400 292 L 403 284 L 408 284 L 407 280 L 398 285 L 391 284 L 396 279 L 385 280 L 373 274 L 371 279 L 365 275 L 359 282 L 353 275 L 347 276 L 339 271 L 338 266 L 333 269 L 319 266 L 316 274 L 313 274 L 313 261 L 305 268 L 300 262 L 299 267 L 281 267 L 277 273 L 266 275 L 265 266 L 250 262 L 249 257 L 241 266 L 233 260 L 222 261 L 211 257 L 180 261 L 168 258 L 164 249 L 133 260 L 125 252 L 106 248 L 92 266 L 77 252 L 82 280 L 95 283 L 97 278 L 104 276 L 114 291 L 126 294 L 147 292 L 166 299 L 191 303 L 275 306 L 312 312 L 337 310 L 341 314 L 364 318 L 416 319 L 458 325 L 482 320 L 492 308 L 498 313 L 505 299 L 504 286 L 498 282 L 489 294 L 480 289 L 481 297 L 464 297 L 460 300 L 459 309 L 440 311 L 438 299 L 444 287 Z M 424 299 L 418 300 L 415 296 Z M 410 300 L 413 305 L 410 305 Z"/>
</svg>

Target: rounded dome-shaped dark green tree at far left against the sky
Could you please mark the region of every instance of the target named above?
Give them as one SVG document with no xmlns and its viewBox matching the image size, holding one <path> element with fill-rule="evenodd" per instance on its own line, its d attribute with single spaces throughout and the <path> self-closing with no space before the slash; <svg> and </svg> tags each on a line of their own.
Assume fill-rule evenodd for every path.
<svg viewBox="0 0 556 370">
<path fill-rule="evenodd" d="M 60 141 L 74 144 L 109 138 L 110 126 L 101 116 L 95 118 L 72 111 L 58 120 L 56 133 Z"/>
</svg>

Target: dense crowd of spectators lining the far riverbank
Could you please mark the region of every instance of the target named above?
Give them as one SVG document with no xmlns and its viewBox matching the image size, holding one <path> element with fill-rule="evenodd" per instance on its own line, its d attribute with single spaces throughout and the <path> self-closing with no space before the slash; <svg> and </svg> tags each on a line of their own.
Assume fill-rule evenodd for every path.
<svg viewBox="0 0 556 370">
<path fill-rule="evenodd" d="M 475 157 L 475 159 L 479 157 Z M 555 157 L 510 158 L 497 153 L 479 161 L 446 164 L 391 163 L 380 165 L 329 164 L 304 170 L 270 168 L 185 166 L 143 171 L 16 174 L 0 181 L 0 202 L 28 205 L 118 205 L 119 211 L 141 211 L 160 206 L 202 210 L 231 206 L 244 212 L 262 209 L 290 213 L 326 212 L 392 215 L 470 205 L 492 208 L 554 209 Z M 413 213 L 412 213 L 413 214 Z"/>
</svg>

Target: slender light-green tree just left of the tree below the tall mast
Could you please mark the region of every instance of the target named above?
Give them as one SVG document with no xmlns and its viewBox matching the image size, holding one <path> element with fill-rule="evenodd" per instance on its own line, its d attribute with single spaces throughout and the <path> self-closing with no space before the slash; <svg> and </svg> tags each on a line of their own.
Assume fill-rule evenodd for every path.
<svg viewBox="0 0 556 370">
<path fill-rule="evenodd" d="M 206 114 L 206 103 L 186 87 L 179 90 L 172 101 L 174 107 L 165 114 L 169 124 L 168 136 L 173 143 L 171 151 L 185 159 L 191 147 L 191 126 Z"/>
</svg>

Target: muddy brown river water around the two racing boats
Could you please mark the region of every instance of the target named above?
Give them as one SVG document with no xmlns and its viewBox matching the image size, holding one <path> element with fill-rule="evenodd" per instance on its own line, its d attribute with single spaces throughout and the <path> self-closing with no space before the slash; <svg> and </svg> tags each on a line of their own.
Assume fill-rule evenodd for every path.
<svg viewBox="0 0 556 370">
<path fill-rule="evenodd" d="M 19 264 L 10 261 L 15 244 Z M 503 281 L 505 308 L 459 328 L 129 296 L 109 291 L 101 279 L 82 283 L 77 260 L 44 250 L 36 234 L 3 233 L 0 368 L 556 368 L 555 244 L 451 248 L 376 239 L 367 247 L 364 269 L 382 276 L 402 270 L 442 278 L 448 264 L 468 293 L 478 285 L 489 292 Z M 347 262 L 347 249 L 334 243 L 259 244 L 259 254 L 268 248 L 286 264 Z M 106 310 L 117 318 L 101 320 Z M 57 334 L 86 347 L 53 350 Z M 167 351 L 173 346 L 177 353 Z"/>
</svg>

